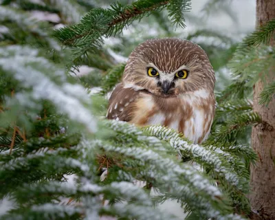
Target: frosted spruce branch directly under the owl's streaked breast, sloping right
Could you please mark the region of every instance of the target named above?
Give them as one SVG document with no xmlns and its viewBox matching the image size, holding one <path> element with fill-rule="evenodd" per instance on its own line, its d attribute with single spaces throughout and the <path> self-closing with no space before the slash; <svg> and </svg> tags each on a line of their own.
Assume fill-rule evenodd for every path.
<svg viewBox="0 0 275 220">
<path fill-rule="evenodd" d="M 148 126 L 145 131 L 161 140 L 166 140 L 177 149 L 179 155 L 190 157 L 201 166 L 210 168 L 221 179 L 225 178 L 232 186 L 239 190 L 247 190 L 248 182 L 245 182 L 243 177 L 248 177 L 248 170 L 245 170 L 244 164 L 239 163 L 239 158 L 234 156 L 229 158 L 228 154 L 221 154 L 223 153 L 221 151 L 215 152 L 198 144 L 190 144 L 173 129 L 166 129 L 162 126 Z M 230 162 L 232 162 L 231 165 Z"/>
</svg>

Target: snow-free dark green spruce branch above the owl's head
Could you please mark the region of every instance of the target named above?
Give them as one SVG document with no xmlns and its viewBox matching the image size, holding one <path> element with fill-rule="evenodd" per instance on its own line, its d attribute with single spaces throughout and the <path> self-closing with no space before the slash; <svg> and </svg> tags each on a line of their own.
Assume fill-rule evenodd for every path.
<svg viewBox="0 0 275 220">
<path fill-rule="evenodd" d="M 54 32 L 59 41 L 73 46 L 78 58 L 89 51 L 96 52 L 102 45 L 102 36 L 114 36 L 137 19 L 162 10 L 167 5 L 169 16 L 178 25 L 184 25 L 183 12 L 190 9 L 190 0 L 139 0 L 131 5 L 113 3 L 111 9 L 94 8 L 83 17 L 80 24 Z M 181 4 L 179 4 L 181 3 Z M 179 7 L 180 6 L 180 7 Z"/>
</svg>

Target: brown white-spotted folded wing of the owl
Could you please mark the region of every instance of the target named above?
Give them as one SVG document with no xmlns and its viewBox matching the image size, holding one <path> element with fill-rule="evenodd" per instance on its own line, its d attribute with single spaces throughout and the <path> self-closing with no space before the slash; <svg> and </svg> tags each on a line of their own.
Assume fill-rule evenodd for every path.
<svg viewBox="0 0 275 220">
<path fill-rule="evenodd" d="M 118 84 L 109 99 L 107 118 L 129 122 L 133 118 L 133 103 L 139 94 L 139 91 L 124 88 L 122 83 Z"/>
</svg>

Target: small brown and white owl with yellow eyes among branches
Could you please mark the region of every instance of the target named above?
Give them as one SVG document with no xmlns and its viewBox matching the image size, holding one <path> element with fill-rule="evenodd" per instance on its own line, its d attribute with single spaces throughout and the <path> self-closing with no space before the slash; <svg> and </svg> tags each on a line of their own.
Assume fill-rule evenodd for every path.
<svg viewBox="0 0 275 220">
<path fill-rule="evenodd" d="M 214 117 L 214 83 L 201 47 L 181 39 L 151 39 L 131 52 L 122 83 L 109 98 L 107 118 L 162 124 L 200 144 Z"/>
</svg>

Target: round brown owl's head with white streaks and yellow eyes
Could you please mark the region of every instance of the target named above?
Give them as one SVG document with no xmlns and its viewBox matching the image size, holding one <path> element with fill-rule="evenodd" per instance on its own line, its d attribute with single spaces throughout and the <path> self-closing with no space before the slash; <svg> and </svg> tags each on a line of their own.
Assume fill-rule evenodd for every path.
<svg viewBox="0 0 275 220">
<path fill-rule="evenodd" d="M 130 54 L 123 76 L 124 87 L 164 98 L 199 89 L 212 91 L 214 81 L 206 53 L 181 39 L 152 39 L 140 44 Z"/>
</svg>

